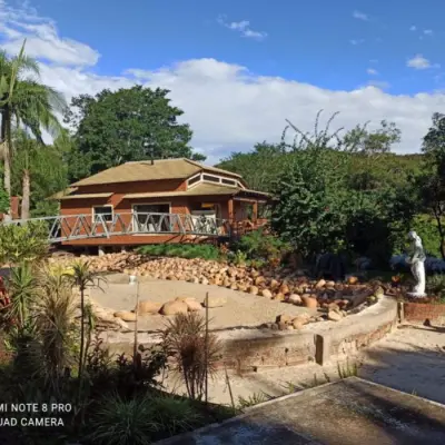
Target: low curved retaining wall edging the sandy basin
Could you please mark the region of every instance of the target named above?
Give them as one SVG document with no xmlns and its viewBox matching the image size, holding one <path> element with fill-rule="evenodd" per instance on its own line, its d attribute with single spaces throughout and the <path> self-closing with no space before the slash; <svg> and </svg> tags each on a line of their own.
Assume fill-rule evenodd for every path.
<svg viewBox="0 0 445 445">
<path fill-rule="evenodd" d="M 340 322 L 310 323 L 298 330 L 219 330 L 215 334 L 222 342 L 224 349 L 216 366 L 248 373 L 308 362 L 325 365 L 383 338 L 397 322 L 397 301 L 392 297 L 382 297 L 375 305 Z M 132 332 L 110 339 L 108 335 L 103 338 L 110 352 L 132 354 Z M 149 347 L 159 342 L 159 336 L 141 333 L 139 342 Z"/>
</svg>

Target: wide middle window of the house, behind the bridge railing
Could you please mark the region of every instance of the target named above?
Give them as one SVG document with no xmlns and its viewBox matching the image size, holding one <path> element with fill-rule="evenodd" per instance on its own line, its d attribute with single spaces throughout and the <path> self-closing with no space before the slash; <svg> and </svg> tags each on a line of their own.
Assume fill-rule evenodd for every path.
<svg viewBox="0 0 445 445">
<path fill-rule="evenodd" d="M 171 231 L 169 204 L 137 204 L 132 206 L 135 231 Z"/>
</svg>

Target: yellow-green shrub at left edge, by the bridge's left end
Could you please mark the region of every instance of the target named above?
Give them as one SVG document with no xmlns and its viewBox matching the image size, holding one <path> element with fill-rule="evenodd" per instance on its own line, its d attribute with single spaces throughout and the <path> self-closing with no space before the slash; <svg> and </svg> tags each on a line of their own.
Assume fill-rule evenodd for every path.
<svg viewBox="0 0 445 445">
<path fill-rule="evenodd" d="M 48 229 L 39 221 L 0 226 L 0 263 L 36 261 L 48 254 Z"/>
</svg>

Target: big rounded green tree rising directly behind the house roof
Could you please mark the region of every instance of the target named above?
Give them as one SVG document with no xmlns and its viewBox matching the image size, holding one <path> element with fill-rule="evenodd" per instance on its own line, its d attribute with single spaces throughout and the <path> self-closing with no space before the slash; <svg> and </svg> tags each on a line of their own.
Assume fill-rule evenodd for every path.
<svg viewBox="0 0 445 445">
<path fill-rule="evenodd" d="M 75 97 L 66 122 L 73 131 L 70 178 L 136 160 L 186 157 L 201 160 L 189 147 L 191 130 L 179 123 L 184 111 L 170 105 L 169 90 L 141 86 Z"/>
</svg>

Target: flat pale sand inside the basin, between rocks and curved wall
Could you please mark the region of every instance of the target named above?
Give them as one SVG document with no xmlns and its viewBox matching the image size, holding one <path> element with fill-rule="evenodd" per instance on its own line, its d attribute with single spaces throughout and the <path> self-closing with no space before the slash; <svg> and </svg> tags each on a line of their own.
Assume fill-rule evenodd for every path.
<svg viewBox="0 0 445 445">
<path fill-rule="evenodd" d="M 120 283 L 119 283 L 120 281 Z M 116 310 L 132 310 L 136 306 L 136 285 L 130 286 L 128 278 L 115 276 L 102 285 L 102 290 L 91 289 L 91 298 L 103 307 Z M 209 296 L 226 297 L 222 307 L 209 309 L 210 329 L 228 327 L 251 327 L 263 323 L 275 322 L 277 315 L 298 315 L 310 313 L 309 309 L 274 301 L 268 298 L 227 289 L 219 286 L 204 286 L 186 281 L 144 280 L 139 285 L 139 300 L 166 303 L 177 297 L 194 297 L 204 301 L 206 293 Z M 202 310 L 204 313 L 204 310 Z M 313 310 L 316 314 L 316 310 Z M 138 330 L 157 330 L 165 326 L 166 317 L 149 315 L 139 318 Z M 132 324 L 129 323 L 132 327 Z"/>
</svg>

